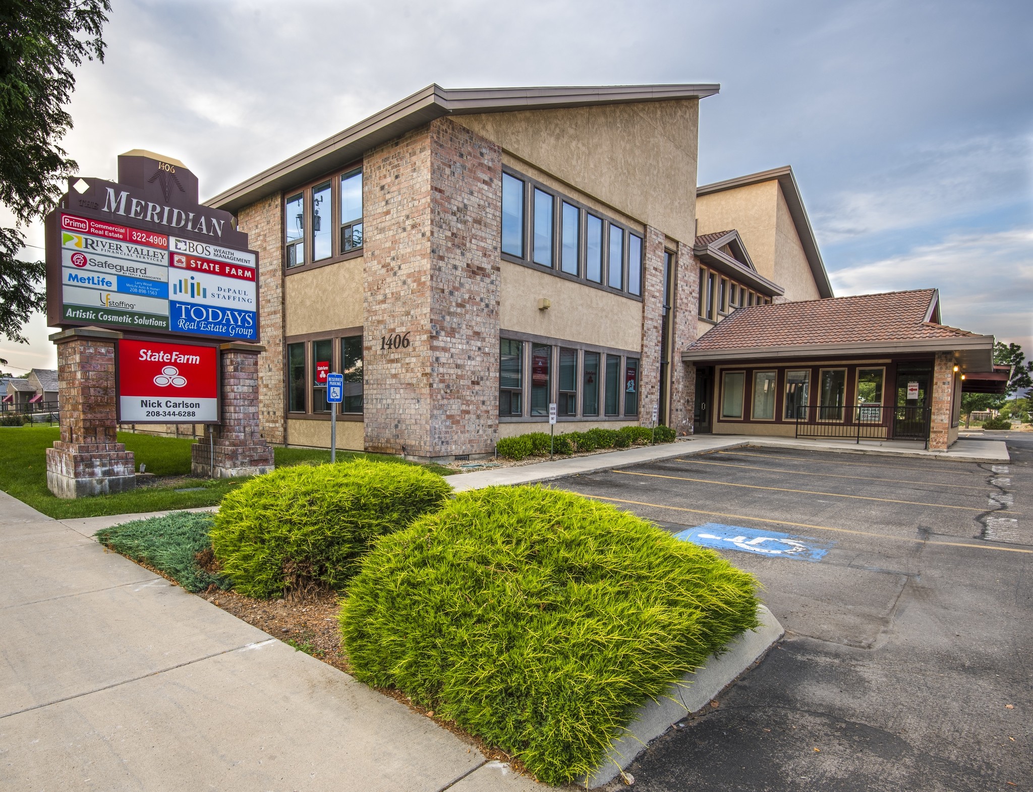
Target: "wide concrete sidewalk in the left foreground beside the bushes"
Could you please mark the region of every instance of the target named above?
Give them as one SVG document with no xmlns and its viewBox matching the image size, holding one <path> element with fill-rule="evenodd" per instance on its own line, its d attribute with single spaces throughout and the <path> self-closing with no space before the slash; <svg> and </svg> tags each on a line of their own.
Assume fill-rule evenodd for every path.
<svg viewBox="0 0 1033 792">
<path fill-rule="evenodd" d="M 0 788 L 546 789 L 0 493 Z"/>
</svg>

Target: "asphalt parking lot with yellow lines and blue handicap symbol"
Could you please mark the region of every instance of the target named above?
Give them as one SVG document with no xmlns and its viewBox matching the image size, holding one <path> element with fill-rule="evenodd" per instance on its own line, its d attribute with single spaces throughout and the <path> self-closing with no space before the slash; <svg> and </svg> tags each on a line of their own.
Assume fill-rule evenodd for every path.
<svg viewBox="0 0 1033 792">
<path fill-rule="evenodd" d="M 635 787 L 1033 788 L 1033 443 L 1009 450 L 743 448 L 556 482 L 717 548 L 787 631 Z"/>
</svg>

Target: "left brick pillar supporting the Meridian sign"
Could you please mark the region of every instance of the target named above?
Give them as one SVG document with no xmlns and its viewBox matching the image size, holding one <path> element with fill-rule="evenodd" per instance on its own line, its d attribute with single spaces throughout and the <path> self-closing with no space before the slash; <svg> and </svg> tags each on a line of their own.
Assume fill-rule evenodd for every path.
<svg viewBox="0 0 1033 792">
<path fill-rule="evenodd" d="M 124 493 L 136 486 L 133 453 L 115 420 L 116 330 L 81 327 L 51 336 L 58 347 L 61 439 L 46 449 L 46 486 L 58 498 Z"/>
</svg>

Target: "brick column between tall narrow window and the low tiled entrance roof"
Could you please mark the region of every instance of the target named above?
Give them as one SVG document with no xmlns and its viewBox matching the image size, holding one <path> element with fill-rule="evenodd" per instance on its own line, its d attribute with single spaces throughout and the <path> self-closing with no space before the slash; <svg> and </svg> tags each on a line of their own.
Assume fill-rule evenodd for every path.
<svg viewBox="0 0 1033 792">
<path fill-rule="evenodd" d="M 678 280 L 675 283 L 675 328 L 670 347 L 670 421 L 679 435 L 692 434 L 696 399 L 696 369 L 682 362 L 682 351 L 698 336 L 699 264 L 692 245 L 678 245 Z"/>
</svg>

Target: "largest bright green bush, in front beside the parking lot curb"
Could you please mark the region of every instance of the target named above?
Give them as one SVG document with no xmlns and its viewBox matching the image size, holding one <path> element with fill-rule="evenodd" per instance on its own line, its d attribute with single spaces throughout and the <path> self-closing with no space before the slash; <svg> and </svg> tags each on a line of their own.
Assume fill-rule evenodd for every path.
<svg viewBox="0 0 1033 792">
<path fill-rule="evenodd" d="M 613 506 L 498 486 L 380 539 L 340 623 L 359 679 L 562 784 L 595 769 L 636 706 L 757 626 L 756 587 Z"/>
</svg>

